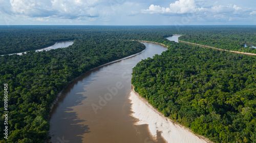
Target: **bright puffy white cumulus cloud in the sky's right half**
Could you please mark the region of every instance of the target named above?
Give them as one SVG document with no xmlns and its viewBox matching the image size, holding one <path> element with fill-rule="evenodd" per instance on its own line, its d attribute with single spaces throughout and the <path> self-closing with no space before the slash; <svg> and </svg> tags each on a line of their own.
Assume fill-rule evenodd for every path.
<svg viewBox="0 0 256 143">
<path fill-rule="evenodd" d="M 160 13 L 181 16 L 183 14 L 193 14 L 197 15 L 197 19 L 208 19 L 209 17 L 215 19 L 225 19 L 226 21 L 231 21 L 234 17 L 248 17 L 248 9 L 242 9 L 237 5 L 218 5 L 218 3 L 208 3 L 204 5 L 202 1 L 198 0 L 179 0 L 175 3 L 169 4 L 169 7 L 161 7 L 151 5 L 148 9 L 142 9 L 142 13 Z M 249 12 L 250 15 L 256 14 L 255 11 Z M 204 18 L 202 18 L 204 17 Z"/>
</svg>

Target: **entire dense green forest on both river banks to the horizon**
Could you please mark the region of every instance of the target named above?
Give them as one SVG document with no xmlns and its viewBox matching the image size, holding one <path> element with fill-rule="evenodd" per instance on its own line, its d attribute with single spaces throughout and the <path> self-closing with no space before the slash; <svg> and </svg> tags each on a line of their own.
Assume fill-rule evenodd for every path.
<svg viewBox="0 0 256 143">
<path fill-rule="evenodd" d="M 255 59 L 165 39 L 181 34 L 180 40 L 188 42 L 204 39 L 198 44 L 207 45 L 215 39 L 208 46 L 254 52 L 242 46 L 255 45 L 255 27 L 0 26 L 0 55 L 31 50 L 22 56 L 0 56 L 1 134 L 4 83 L 9 94 L 8 140 L 1 136 L 0 142 L 44 142 L 57 94 L 82 73 L 145 48 L 129 40 L 170 47 L 154 59 L 143 60 L 133 73 L 135 89 L 165 116 L 216 142 L 255 141 Z M 63 40 L 74 44 L 35 52 Z"/>
</svg>

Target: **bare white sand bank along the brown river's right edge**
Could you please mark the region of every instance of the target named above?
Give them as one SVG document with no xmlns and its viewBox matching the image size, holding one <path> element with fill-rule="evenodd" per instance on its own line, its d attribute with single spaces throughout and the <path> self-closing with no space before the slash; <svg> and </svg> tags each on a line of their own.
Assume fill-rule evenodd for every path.
<svg viewBox="0 0 256 143">
<path fill-rule="evenodd" d="M 148 128 L 153 135 L 157 136 L 157 131 L 161 132 L 162 137 L 168 142 L 174 143 L 205 143 L 211 142 L 206 138 L 194 134 L 189 129 L 174 123 L 172 120 L 164 117 L 162 113 L 156 110 L 145 99 L 141 98 L 134 90 L 131 91 L 129 99 L 132 103 L 132 116 L 139 121 L 137 124 L 148 124 Z"/>
</svg>

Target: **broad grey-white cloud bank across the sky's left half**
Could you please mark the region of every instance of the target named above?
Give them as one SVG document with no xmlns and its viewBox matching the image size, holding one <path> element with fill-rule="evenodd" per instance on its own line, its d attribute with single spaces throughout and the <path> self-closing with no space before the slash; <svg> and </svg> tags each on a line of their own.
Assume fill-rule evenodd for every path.
<svg viewBox="0 0 256 143">
<path fill-rule="evenodd" d="M 120 17 L 140 14 L 141 9 L 139 3 L 124 0 L 0 0 L 0 12 L 3 12 L 2 1 L 9 1 L 9 12 L 6 12 L 9 15 L 38 18 L 36 21 L 40 18 L 72 19 L 88 24 L 90 21 L 120 21 Z"/>
</svg>

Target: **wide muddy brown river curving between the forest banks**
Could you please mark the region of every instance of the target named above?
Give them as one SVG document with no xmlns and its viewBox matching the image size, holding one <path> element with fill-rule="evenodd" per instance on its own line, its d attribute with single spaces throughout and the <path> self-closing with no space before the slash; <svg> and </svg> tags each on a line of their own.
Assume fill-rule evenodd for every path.
<svg viewBox="0 0 256 143">
<path fill-rule="evenodd" d="M 96 68 L 62 93 L 50 118 L 49 142 L 165 142 L 153 140 L 147 125 L 131 116 L 131 73 L 141 59 L 167 48 L 142 42 L 147 49 L 132 58 Z"/>
</svg>

